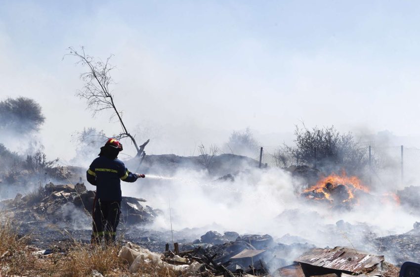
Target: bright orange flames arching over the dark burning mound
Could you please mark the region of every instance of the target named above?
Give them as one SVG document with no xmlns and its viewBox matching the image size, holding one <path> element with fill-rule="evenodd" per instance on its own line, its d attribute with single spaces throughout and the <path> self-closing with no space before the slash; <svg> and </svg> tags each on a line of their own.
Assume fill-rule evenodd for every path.
<svg viewBox="0 0 420 277">
<path fill-rule="evenodd" d="M 369 192 L 369 188 L 361 183 L 359 178 L 356 176 L 347 176 L 345 172 L 341 176 L 333 173 L 330 176 L 321 178 L 316 185 L 309 187 L 304 192 L 315 191 L 323 193 L 326 199 L 333 201 L 330 191 L 334 190 L 338 185 L 344 185 L 348 193 L 348 198 L 343 200 L 343 202 L 347 202 L 354 198 L 354 192 L 356 190 Z"/>
</svg>

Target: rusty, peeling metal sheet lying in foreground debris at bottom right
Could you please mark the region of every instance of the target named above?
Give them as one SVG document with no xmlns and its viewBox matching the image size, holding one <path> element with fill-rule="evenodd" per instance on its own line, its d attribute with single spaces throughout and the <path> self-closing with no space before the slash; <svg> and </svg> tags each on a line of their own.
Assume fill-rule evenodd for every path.
<svg viewBox="0 0 420 277">
<path fill-rule="evenodd" d="M 383 261 L 383 256 L 359 253 L 345 247 L 312 249 L 296 260 L 301 264 L 357 274 L 371 272 Z"/>
</svg>

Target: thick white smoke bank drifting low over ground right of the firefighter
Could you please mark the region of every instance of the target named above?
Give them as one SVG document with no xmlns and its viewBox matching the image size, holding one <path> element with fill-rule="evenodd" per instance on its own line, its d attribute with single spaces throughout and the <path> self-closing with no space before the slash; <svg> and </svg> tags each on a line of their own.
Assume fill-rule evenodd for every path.
<svg viewBox="0 0 420 277">
<path fill-rule="evenodd" d="M 361 198 L 351 211 L 308 201 L 300 196 L 302 187 L 291 174 L 277 168 L 244 171 L 234 182 L 215 179 L 205 171 L 186 169 L 172 176 L 150 175 L 148 179 L 146 175 L 145 180 L 124 185 L 123 194 L 145 198 L 150 206 L 164 211 L 155 229 L 170 230 L 171 220 L 174 230 L 208 227 L 268 233 L 280 241 L 297 236 L 292 241 L 318 246 L 357 245 L 370 233 L 375 237 L 403 233 L 417 219 L 392 197 L 381 195 Z M 336 225 L 340 220 L 344 221 L 341 227 Z"/>
</svg>

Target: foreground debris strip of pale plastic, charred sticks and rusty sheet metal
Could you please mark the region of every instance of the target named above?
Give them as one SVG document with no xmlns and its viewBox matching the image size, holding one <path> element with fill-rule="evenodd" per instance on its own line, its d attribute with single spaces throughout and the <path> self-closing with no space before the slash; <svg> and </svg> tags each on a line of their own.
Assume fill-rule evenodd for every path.
<svg viewBox="0 0 420 277">
<path fill-rule="evenodd" d="M 166 251 L 159 255 L 128 242 L 121 250 L 120 257 L 128 263 L 131 273 L 137 272 L 143 263 L 167 266 L 187 272 L 188 276 L 397 277 L 399 273 L 398 268 L 384 261 L 384 256 L 362 253 L 341 246 L 333 249 L 306 249 L 292 262 L 281 265 L 286 263 L 282 257 L 288 256 L 287 245 L 279 244 L 273 247 L 274 242 L 268 236 L 252 235 L 252 237 L 256 238 L 254 242 L 264 241 L 260 247 L 264 245 L 270 248 L 256 249 L 252 244 L 245 242 L 249 236 L 240 236 L 237 240 L 218 247 L 218 251 L 215 251 L 216 245 L 210 248 L 198 246 L 187 251 L 179 251 L 178 243 L 174 243 L 173 251 L 169 250 L 167 244 Z M 266 244 L 267 242 L 269 244 Z M 275 248 L 283 251 L 276 252 L 276 263 L 272 263 L 280 265 L 280 268 L 270 266 L 270 258 L 273 258 Z"/>
</svg>

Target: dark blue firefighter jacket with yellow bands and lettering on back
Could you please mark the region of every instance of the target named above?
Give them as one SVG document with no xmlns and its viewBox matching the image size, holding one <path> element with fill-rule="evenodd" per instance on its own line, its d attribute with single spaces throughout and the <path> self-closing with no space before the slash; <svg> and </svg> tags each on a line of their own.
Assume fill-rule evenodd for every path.
<svg viewBox="0 0 420 277">
<path fill-rule="evenodd" d="M 96 185 L 96 197 L 103 201 L 121 201 L 120 180 L 135 182 L 137 178 L 122 161 L 105 156 L 94 159 L 86 172 L 87 182 Z"/>
</svg>

